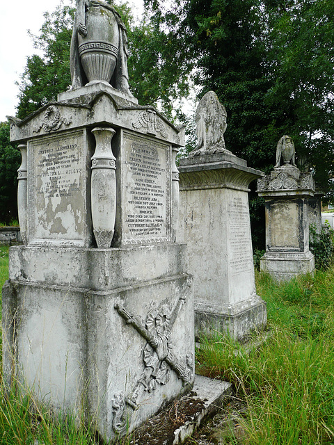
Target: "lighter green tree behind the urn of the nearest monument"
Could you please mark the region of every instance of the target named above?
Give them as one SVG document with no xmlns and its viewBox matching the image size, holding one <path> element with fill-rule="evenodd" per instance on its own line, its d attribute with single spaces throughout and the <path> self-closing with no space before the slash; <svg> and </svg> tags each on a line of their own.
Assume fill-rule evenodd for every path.
<svg viewBox="0 0 334 445">
<path fill-rule="evenodd" d="M 129 84 L 133 94 L 140 104 L 158 106 L 171 118 L 173 102 L 189 92 L 186 73 L 192 63 L 183 51 L 183 42 L 172 30 L 161 30 L 148 17 L 135 25 L 127 2 L 113 6 L 127 27 Z M 69 88 L 74 13 L 74 8 L 61 4 L 53 13 L 45 13 L 39 35 L 29 33 L 42 55 L 27 59 L 19 84 L 17 117 L 24 118 L 55 101 L 59 92 Z"/>
</svg>

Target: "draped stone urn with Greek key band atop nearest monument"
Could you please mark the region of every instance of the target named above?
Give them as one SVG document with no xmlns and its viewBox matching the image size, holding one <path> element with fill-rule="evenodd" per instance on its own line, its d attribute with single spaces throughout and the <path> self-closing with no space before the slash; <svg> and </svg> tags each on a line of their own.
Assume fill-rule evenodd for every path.
<svg viewBox="0 0 334 445">
<path fill-rule="evenodd" d="M 116 9 L 100 0 L 77 0 L 70 51 L 72 89 L 103 82 L 132 96 L 127 56 L 127 30 Z"/>
</svg>

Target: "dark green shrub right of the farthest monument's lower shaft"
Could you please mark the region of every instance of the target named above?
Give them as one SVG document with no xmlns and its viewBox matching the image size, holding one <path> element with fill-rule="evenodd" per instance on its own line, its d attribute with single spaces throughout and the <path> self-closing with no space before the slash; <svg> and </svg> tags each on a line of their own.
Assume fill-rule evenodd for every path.
<svg viewBox="0 0 334 445">
<path fill-rule="evenodd" d="M 326 269 L 333 265 L 334 231 L 327 225 L 317 234 L 315 227 L 310 225 L 310 250 L 315 255 L 315 267 Z"/>
</svg>

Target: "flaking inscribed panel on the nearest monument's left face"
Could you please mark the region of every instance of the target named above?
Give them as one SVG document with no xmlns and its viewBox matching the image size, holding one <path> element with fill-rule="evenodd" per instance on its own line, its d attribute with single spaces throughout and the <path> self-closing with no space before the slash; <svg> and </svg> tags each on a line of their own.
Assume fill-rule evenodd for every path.
<svg viewBox="0 0 334 445">
<path fill-rule="evenodd" d="M 84 131 L 29 143 L 29 242 L 84 245 L 85 147 Z"/>
</svg>

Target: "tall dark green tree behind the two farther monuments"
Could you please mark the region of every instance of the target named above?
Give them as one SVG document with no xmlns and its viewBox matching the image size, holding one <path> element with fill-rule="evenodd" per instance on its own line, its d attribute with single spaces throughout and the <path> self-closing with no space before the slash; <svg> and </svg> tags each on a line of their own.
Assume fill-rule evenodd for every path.
<svg viewBox="0 0 334 445">
<path fill-rule="evenodd" d="M 175 0 L 167 12 L 156 0 L 145 3 L 165 24 L 179 11 L 198 98 L 214 90 L 228 112 L 228 149 L 268 173 L 279 138 L 289 134 L 299 166 L 312 168 L 324 191 L 333 188 L 333 2 Z M 255 184 L 250 209 L 255 234 L 263 220 Z"/>
</svg>

